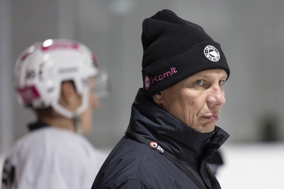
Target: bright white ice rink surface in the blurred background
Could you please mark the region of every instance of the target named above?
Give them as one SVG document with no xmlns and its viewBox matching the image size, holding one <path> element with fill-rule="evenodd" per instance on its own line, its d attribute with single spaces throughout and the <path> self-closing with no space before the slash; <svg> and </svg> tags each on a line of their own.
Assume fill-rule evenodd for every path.
<svg viewBox="0 0 284 189">
<path fill-rule="evenodd" d="M 284 189 L 284 143 L 224 144 L 221 153 L 222 189 Z"/>
</svg>

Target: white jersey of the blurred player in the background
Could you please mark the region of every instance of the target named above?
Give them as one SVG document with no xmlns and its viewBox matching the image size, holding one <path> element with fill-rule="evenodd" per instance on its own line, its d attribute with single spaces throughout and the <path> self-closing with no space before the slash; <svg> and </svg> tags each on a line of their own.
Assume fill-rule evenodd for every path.
<svg viewBox="0 0 284 189">
<path fill-rule="evenodd" d="M 80 134 L 41 128 L 6 157 L 1 189 L 90 189 L 106 157 Z"/>
</svg>

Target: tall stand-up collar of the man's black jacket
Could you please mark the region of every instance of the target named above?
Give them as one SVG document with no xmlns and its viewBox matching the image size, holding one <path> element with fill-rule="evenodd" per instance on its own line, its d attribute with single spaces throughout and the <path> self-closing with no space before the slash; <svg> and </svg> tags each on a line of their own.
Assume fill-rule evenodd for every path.
<svg viewBox="0 0 284 189">
<path fill-rule="evenodd" d="M 213 154 L 229 137 L 217 126 L 210 133 L 191 129 L 144 96 L 142 89 L 132 105 L 127 131 L 158 142 L 163 149 L 191 165 Z"/>
</svg>

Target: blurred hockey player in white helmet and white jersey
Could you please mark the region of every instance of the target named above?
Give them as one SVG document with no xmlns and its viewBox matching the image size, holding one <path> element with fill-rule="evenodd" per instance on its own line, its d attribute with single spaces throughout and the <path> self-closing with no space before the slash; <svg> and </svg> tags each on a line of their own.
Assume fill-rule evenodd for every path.
<svg viewBox="0 0 284 189">
<path fill-rule="evenodd" d="M 87 189 L 106 154 L 80 133 L 90 131 L 99 69 L 85 45 L 48 39 L 27 48 L 15 65 L 16 95 L 32 108 L 28 126 L 4 161 L 2 189 Z M 104 75 L 107 76 L 107 75 Z"/>
</svg>

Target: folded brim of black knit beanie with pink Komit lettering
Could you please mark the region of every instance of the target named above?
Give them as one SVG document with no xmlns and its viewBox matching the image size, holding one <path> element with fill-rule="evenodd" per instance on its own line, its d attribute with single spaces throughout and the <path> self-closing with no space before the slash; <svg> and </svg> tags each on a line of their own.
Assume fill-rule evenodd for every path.
<svg viewBox="0 0 284 189">
<path fill-rule="evenodd" d="M 214 47 L 219 53 L 217 61 L 206 57 L 204 50 L 208 46 Z M 227 78 L 230 75 L 227 60 L 219 43 L 215 41 L 197 43 L 143 68 L 142 93 L 152 97 L 189 76 L 211 69 L 223 69 L 227 73 Z"/>
</svg>

